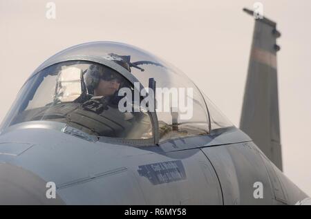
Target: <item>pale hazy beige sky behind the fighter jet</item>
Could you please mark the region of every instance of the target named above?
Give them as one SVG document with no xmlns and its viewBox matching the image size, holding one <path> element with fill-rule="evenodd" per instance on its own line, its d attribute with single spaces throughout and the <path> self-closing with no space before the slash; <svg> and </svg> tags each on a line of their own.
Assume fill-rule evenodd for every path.
<svg viewBox="0 0 311 219">
<path fill-rule="evenodd" d="M 186 73 L 239 126 L 256 1 L 0 0 L 0 121 L 45 59 L 86 41 L 120 41 Z M 311 196 L 311 1 L 261 1 L 278 23 L 283 169 Z"/>
</svg>

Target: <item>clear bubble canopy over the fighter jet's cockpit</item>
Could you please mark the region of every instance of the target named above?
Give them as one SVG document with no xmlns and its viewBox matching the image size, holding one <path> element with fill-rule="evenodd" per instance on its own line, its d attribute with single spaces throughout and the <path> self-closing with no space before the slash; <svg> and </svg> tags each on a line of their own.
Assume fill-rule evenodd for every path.
<svg viewBox="0 0 311 219">
<path fill-rule="evenodd" d="M 233 126 L 180 70 L 139 48 L 105 41 L 73 46 L 41 64 L 1 130 L 38 120 L 160 142 Z"/>
</svg>

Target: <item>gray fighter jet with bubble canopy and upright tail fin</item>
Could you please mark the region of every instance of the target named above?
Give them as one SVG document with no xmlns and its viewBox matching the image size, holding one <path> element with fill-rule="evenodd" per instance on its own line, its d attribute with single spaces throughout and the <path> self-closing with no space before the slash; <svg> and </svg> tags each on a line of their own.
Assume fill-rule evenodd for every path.
<svg viewBox="0 0 311 219">
<path fill-rule="evenodd" d="M 241 129 L 140 48 L 97 41 L 50 57 L 1 124 L 0 204 L 306 204 L 281 171 L 280 35 L 255 20 Z"/>
</svg>

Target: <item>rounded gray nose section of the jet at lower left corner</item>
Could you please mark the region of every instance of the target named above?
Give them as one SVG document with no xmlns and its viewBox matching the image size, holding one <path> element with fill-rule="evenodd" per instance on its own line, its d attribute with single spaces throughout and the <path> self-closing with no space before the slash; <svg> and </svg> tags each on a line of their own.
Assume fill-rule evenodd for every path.
<svg viewBox="0 0 311 219">
<path fill-rule="evenodd" d="M 0 163 L 0 204 L 64 204 L 61 198 L 47 198 L 46 182 L 12 164 Z"/>
</svg>

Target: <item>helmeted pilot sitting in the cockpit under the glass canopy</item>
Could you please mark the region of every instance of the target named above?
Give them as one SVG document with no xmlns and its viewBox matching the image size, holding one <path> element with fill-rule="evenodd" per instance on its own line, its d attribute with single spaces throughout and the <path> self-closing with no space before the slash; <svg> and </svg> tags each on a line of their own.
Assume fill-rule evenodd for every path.
<svg viewBox="0 0 311 219">
<path fill-rule="evenodd" d="M 126 61 L 111 61 L 130 71 L 129 64 L 126 65 Z M 97 115 L 109 117 L 109 120 L 117 122 L 119 126 L 121 125 L 126 130 L 131 130 L 129 127 L 135 124 L 138 117 L 134 117 L 133 112 L 122 112 L 118 109 L 119 100 L 123 98 L 118 96 L 118 91 L 124 86 L 130 88 L 130 82 L 116 70 L 101 64 L 89 66 L 84 73 L 84 82 L 88 93 L 93 95 L 91 99 L 82 104 L 84 111 L 92 111 Z M 126 135 L 126 133 L 121 131 L 115 131 L 115 133 L 117 133 L 117 137 Z M 112 134 L 110 135 L 112 136 Z"/>
</svg>

